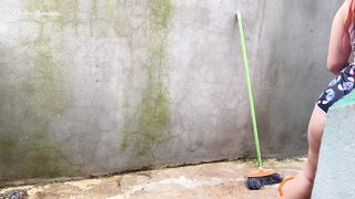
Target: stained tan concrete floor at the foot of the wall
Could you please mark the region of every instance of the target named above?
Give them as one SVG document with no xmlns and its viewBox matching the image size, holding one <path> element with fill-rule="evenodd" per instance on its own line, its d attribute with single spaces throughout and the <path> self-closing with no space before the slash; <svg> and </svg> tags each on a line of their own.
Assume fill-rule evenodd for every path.
<svg viewBox="0 0 355 199">
<path fill-rule="evenodd" d="M 305 159 L 268 160 L 265 167 L 283 176 L 295 175 Z M 251 191 L 244 186 L 244 175 L 253 170 L 254 163 L 227 161 L 179 168 L 140 171 L 99 179 L 87 179 L 48 185 L 12 187 L 27 189 L 29 198 L 278 198 L 277 186 Z"/>
</svg>

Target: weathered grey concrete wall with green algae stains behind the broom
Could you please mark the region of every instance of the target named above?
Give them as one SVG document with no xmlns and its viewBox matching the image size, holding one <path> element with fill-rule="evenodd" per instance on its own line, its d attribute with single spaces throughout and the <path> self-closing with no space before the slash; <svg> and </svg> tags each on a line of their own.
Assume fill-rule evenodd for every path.
<svg viewBox="0 0 355 199">
<path fill-rule="evenodd" d="M 0 181 L 303 155 L 341 1 L 4 0 Z M 302 97 L 300 97 L 302 96 Z"/>
</svg>

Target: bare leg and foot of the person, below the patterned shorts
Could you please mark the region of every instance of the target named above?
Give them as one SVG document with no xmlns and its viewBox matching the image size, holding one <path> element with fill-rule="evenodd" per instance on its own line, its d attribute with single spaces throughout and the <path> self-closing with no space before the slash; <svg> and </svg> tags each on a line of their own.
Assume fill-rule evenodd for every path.
<svg viewBox="0 0 355 199">
<path fill-rule="evenodd" d="M 308 157 L 303 170 L 284 186 L 283 199 L 311 198 L 313 182 L 318 164 L 318 154 L 323 127 L 326 119 L 325 113 L 317 106 L 314 107 L 308 125 Z"/>
</svg>

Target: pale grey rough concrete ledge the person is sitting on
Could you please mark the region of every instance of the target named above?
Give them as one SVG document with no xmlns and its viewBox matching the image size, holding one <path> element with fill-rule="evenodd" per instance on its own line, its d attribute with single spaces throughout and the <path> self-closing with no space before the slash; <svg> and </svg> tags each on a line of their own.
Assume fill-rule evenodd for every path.
<svg viewBox="0 0 355 199">
<path fill-rule="evenodd" d="M 329 109 L 312 198 L 354 198 L 355 92 Z"/>
</svg>

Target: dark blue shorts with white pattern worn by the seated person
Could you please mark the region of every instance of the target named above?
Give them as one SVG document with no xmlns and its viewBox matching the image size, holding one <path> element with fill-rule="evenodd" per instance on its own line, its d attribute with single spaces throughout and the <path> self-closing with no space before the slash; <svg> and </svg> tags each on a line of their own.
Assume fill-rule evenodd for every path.
<svg viewBox="0 0 355 199">
<path fill-rule="evenodd" d="M 354 88 L 355 82 L 355 63 L 343 69 L 339 74 L 331 81 L 317 100 L 317 106 L 325 113 L 328 108 L 343 96 L 347 95 Z"/>
</svg>

